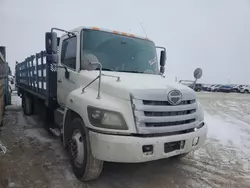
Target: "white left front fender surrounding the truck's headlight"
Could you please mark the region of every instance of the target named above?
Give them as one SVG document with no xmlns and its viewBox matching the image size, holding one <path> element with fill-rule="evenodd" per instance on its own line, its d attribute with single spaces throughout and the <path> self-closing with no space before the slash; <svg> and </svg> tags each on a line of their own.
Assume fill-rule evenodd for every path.
<svg viewBox="0 0 250 188">
<path fill-rule="evenodd" d="M 120 112 L 127 123 L 128 130 L 115 130 L 115 129 L 106 129 L 92 126 L 88 119 L 88 106 L 94 106 L 101 109 L 108 109 L 111 111 Z M 63 118 L 63 128 L 66 121 L 66 116 L 68 110 L 72 110 L 77 113 L 83 120 L 85 126 L 90 129 L 95 129 L 104 132 L 111 133 L 136 133 L 136 129 L 134 126 L 134 118 L 130 101 L 116 98 L 105 93 L 101 93 L 101 98 L 97 99 L 97 91 L 88 88 L 84 93 L 82 93 L 82 89 L 78 88 L 71 93 L 69 93 L 66 106 L 65 113 Z"/>
</svg>

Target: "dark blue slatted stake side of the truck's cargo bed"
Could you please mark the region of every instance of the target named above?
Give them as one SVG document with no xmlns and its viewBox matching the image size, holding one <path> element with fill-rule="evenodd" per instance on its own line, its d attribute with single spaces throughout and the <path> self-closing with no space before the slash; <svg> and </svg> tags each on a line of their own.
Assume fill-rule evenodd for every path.
<svg viewBox="0 0 250 188">
<path fill-rule="evenodd" d="M 54 104 L 57 93 L 57 66 L 45 51 L 16 62 L 16 86 Z"/>
</svg>

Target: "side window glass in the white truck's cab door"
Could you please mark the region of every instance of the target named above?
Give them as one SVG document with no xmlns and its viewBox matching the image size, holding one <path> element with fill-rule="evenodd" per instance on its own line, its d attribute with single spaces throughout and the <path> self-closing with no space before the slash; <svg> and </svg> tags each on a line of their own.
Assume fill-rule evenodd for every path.
<svg viewBox="0 0 250 188">
<path fill-rule="evenodd" d="M 65 39 L 62 43 L 61 62 L 72 69 L 76 69 L 76 47 L 76 37 Z"/>
</svg>

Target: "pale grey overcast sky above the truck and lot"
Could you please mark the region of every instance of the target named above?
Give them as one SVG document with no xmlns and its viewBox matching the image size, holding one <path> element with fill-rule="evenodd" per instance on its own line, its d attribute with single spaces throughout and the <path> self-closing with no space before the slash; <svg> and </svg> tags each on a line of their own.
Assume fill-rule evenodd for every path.
<svg viewBox="0 0 250 188">
<path fill-rule="evenodd" d="M 165 75 L 250 84 L 250 0 L 0 0 L 0 45 L 15 62 L 45 48 L 51 27 L 95 26 L 147 36 L 167 48 Z"/>
</svg>

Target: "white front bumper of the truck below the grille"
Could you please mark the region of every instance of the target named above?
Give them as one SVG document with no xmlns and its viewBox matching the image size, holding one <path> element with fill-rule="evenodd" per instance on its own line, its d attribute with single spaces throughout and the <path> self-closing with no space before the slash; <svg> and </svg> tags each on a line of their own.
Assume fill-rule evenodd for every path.
<svg viewBox="0 0 250 188">
<path fill-rule="evenodd" d="M 89 132 L 91 151 L 95 158 L 103 161 L 121 163 L 139 163 L 153 161 L 171 156 L 188 153 L 204 145 L 207 138 L 207 125 L 195 132 L 161 137 L 136 137 L 107 135 Z M 193 140 L 199 137 L 198 144 L 193 146 Z M 165 143 L 185 141 L 182 149 L 164 152 Z M 143 146 L 152 145 L 153 153 L 148 155 L 143 152 Z"/>
</svg>

